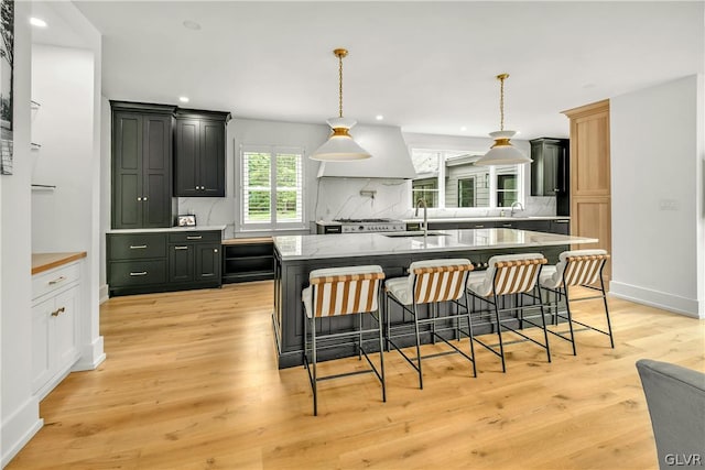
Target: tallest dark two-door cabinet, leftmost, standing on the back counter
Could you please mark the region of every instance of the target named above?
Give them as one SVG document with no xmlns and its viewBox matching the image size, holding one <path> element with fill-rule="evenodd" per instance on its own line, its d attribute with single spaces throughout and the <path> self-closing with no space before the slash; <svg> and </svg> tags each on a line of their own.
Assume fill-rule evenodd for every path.
<svg viewBox="0 0 705 470">
<path fill-rule="evenodd" d="M 110 101 L 112 108 L 111 227 L 171 227 L 174 106 Z"/>
</svg>

